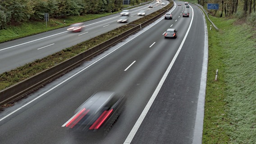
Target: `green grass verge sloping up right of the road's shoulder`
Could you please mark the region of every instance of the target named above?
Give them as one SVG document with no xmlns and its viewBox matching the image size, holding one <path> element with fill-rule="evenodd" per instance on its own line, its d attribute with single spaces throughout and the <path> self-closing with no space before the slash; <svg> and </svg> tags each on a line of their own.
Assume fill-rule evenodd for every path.
<svg viewBox="0 0 256 144">
<path fill-rule="evenodd" d="M 209 32 L 203 144 L 256 144 L 256 32 L 213 18 Z M 218 80 L 215 80 L 219 69 Z"/>
</svg>

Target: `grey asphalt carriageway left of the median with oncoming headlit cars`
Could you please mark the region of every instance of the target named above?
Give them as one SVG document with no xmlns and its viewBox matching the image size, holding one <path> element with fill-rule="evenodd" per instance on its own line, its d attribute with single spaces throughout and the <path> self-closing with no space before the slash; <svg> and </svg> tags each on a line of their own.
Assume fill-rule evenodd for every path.
<svg viewBox="0 0 256 144">
<path fill-rule="evenodd" d="M 168 1 L 165 3 L 167 4 Z M 129 22 L 141 16 L 137 16 L 140 10 L 146 10 L 146 14 L 151 14 L 165 5 L 154 4 L 153 8 L 148 8 L 148 4 L 130 10 Z M 169 4 L 169 2 L 168 2 Z M 114 30 L 127 23 L 117 23 L 120 14 L 113 14 L 107 17 L 98 18 L 85 22 L 85 28 L 81 32 L 72 33 L 67 31 L 67 27 L 53 31 L 40 33 L 34 36 L 27 36 L 17 40 L 0 43 L 0 73 L 7 72 L 26 63 L 44 58 L 62 49 L 99 36 L 105 32 Z"/>
</svg>

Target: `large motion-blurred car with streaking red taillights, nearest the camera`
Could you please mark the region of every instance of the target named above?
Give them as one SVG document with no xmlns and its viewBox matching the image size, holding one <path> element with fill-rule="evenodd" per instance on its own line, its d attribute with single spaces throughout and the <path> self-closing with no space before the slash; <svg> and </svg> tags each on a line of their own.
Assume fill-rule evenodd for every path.
<svg viewBox="0 0 256 144">
<path fill-rule="evenodd" d="M 125 105 L 124 95 L 111 91 L 93 94 L 75 111 L 75 115 L 64 126 L 75 132 L 97 131 L 105 135 L 118 119 Z"/>
</svg>

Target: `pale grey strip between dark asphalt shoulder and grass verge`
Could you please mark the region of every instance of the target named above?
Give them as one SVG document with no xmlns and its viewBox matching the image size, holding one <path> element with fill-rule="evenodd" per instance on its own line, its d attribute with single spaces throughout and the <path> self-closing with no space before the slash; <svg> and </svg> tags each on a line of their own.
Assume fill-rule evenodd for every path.
<svg viewBox="0 0 256 144">
<path fill-rule="evenodd" d="M 206 34 L 205 34 L 204 57 L 203 57 L 203 64 L 202 64 L 203 67 L 202 67 L 202 73 L 201 73 L 201 83 L 200 83 L 200 90 L 199 90 L 198 103 L 197 103 L 197 115 L 195 118 L 192 144 L 202 144 L 203 123 L 204 123 L 207 64 L 208 64 L 208 31 L 207 31 L 207 23 L 206 23 L 204 13 L 202 12 L 202 14 L 205 20 Z"/>
</svg>

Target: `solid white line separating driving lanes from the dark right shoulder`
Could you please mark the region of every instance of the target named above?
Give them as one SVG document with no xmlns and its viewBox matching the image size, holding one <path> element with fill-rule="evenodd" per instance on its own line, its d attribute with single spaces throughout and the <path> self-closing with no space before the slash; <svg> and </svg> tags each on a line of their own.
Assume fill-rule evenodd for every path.
<svg viewBox="0 0 256 144">
<path fill-rule="evenodd" d="M 193 9 L 192 9 L 192 11 L 193 11 Z M 192 12 L 192 13 L 193 13 L 193 12 Z M 161 87 L 162 87 L 162 85 L 163 85 L 163 83 L 164 83 L 166 77 L 168 76 L 168 74 L 169 74 L 171 68 L 172 68 L 173 65 L 174 65 L 174 62 L 175 62 L 176 58 L 178 57 L 179 52 L 180 52 L 181 49 L 182 49 L 182 46 L 183 46 L 183 44 L 184 44 L 184 42 L 185 42 L 185 40 L 186 40 L 186 38 L 187 38 L 187 35 L 188 35 L 188 32 L 189 32 L 190 28 L 191 28 L 191 25 L 192 25 L 192 22 L 193 22 L 193 18 L 194 18 L 194 16 L 193 16 L 192 19 L 191 19 L 191 22 L 190 22 L 190 25 L 189 25 L 189 27 L 188 27 L 188 29 L 187 29 L 187 32 L 186 32 L 186 34 L 185 34 L 185 36 L 184 36 L 184 38 L 183 38 L 183 40 L 182 40 L 182 42 L 181 42 L 181 45 L 180 45 L 179 48 L 178 48 L 176 54 L 174 55 L 173 60 L 171 61 L 169 67 L 168 67 L 167 70 L 165 71 L 165 74 L 164 74 L 163 77 L 161 78 L 161 80 L 160 80 L 159 84 L 157 85 L 157 87 L 156 87 L 154 93 L 152 94 L 151 98 L 149 99 L 148 103 L 146 104 L 146 107 L 145 107 L 144 110 L 142 111 L 142 114 L 140 115 L 140 117 L 139 117 L 138 120 L 136 121 L 135 125 L 133 126 L 133 129 L 130 131 L 129 135 L 127 136 L 127 138 L 125 139 L 125 141 L 124 141 L 123 144 L 130 144 L 130 143 L 132 142 L 133 137 L 135 136 L 137 130 L 138 130 L 139 127 L 141 126 L 142 121 L 143 121 L 144 118 L 146 117 L 146 113 L 149 111 L 149 109 L 150 109 L 152 103 L 153 103 L 154 100 L 155 100 L 155 97 L 157 96 L 158 92 L 160 91 L 160 89 L 161 89 Z"/>
</svg>

